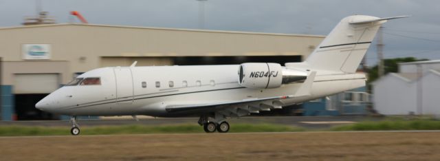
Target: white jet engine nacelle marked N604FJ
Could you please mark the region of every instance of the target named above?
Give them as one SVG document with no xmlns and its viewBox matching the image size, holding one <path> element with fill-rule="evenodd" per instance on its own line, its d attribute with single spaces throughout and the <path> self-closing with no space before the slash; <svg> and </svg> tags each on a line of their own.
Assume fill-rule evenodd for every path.
<svg viewBox="0 0 440 161">
<path fill-rule="evenodd" d="M 278 88 L 306 78 L 307 72 L 285 69 L 278 63 L 243 63 L 239 68 L 239 84 L 248 88 Z"/>
</svg>

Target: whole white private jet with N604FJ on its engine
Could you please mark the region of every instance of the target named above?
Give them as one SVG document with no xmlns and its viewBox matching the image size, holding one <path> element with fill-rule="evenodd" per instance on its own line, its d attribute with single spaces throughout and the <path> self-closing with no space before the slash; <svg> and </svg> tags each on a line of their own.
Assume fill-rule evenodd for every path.
<svg viewBox="0 0 440 161">
<path fill-rule="evenodd" d="M 228 132 L 226 118 L 280 109 L 365 85 L 355 73 L 380 25 L 389 19 L 355 15 L 336 28 L 301 63 L 243 63 L 103 67 L 81 74 L 36 108 L 72 116 L 200 116 L 212 133 Z"/>
</svg>

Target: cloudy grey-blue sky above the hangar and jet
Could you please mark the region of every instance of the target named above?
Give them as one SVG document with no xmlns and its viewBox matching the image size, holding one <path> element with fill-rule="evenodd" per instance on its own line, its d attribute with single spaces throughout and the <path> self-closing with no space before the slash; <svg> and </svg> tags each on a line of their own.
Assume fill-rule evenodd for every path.
<svg viewBox="0 0 440 161">
<path fill-rule="evenodd" d="M 285 34 L 327 35 L 353 14 L 409 15 L 384 24 L 384 58 L 440 59 L 437 0 L 0 0 L 0 27 L 21 25 L 25 16 L 36 14 L 37 1 L 58 23 L 78 23 L 69 15 L 76 10 L 93 24 Z M 374 42 L 368 65 L 377 63 L 376 51 Z"/>
</svg>

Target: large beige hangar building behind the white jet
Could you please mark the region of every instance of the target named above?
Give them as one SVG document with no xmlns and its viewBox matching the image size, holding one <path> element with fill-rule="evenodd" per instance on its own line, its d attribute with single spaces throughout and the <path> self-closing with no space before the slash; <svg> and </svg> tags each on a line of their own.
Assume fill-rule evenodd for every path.
<svg viewBox="0 0 440 161">
<path fill-rule="evenodd" d="M 298 62 L 325 36 L 60 23 L 0 28 L 1 120 L 58 119 L 38 100 L 107 66 Z"/>
</svg>

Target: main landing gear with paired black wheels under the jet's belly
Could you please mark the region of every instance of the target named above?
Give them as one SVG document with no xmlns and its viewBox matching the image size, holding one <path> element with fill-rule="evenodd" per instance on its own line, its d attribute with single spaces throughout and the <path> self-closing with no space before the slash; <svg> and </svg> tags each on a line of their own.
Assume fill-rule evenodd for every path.
<svg viewBox="0 0 440 161">
<path fill-rule="evenodd" d="M 225 118 L 217 120 L 209 116 L 200 116 L 199 125 L 203 125 L 203 130 L 206 133 L 213 133 L 215 131 L 219 131 L 219 133 L 227 133 L 230 126 L 224 119 Z"/>
</svg>

